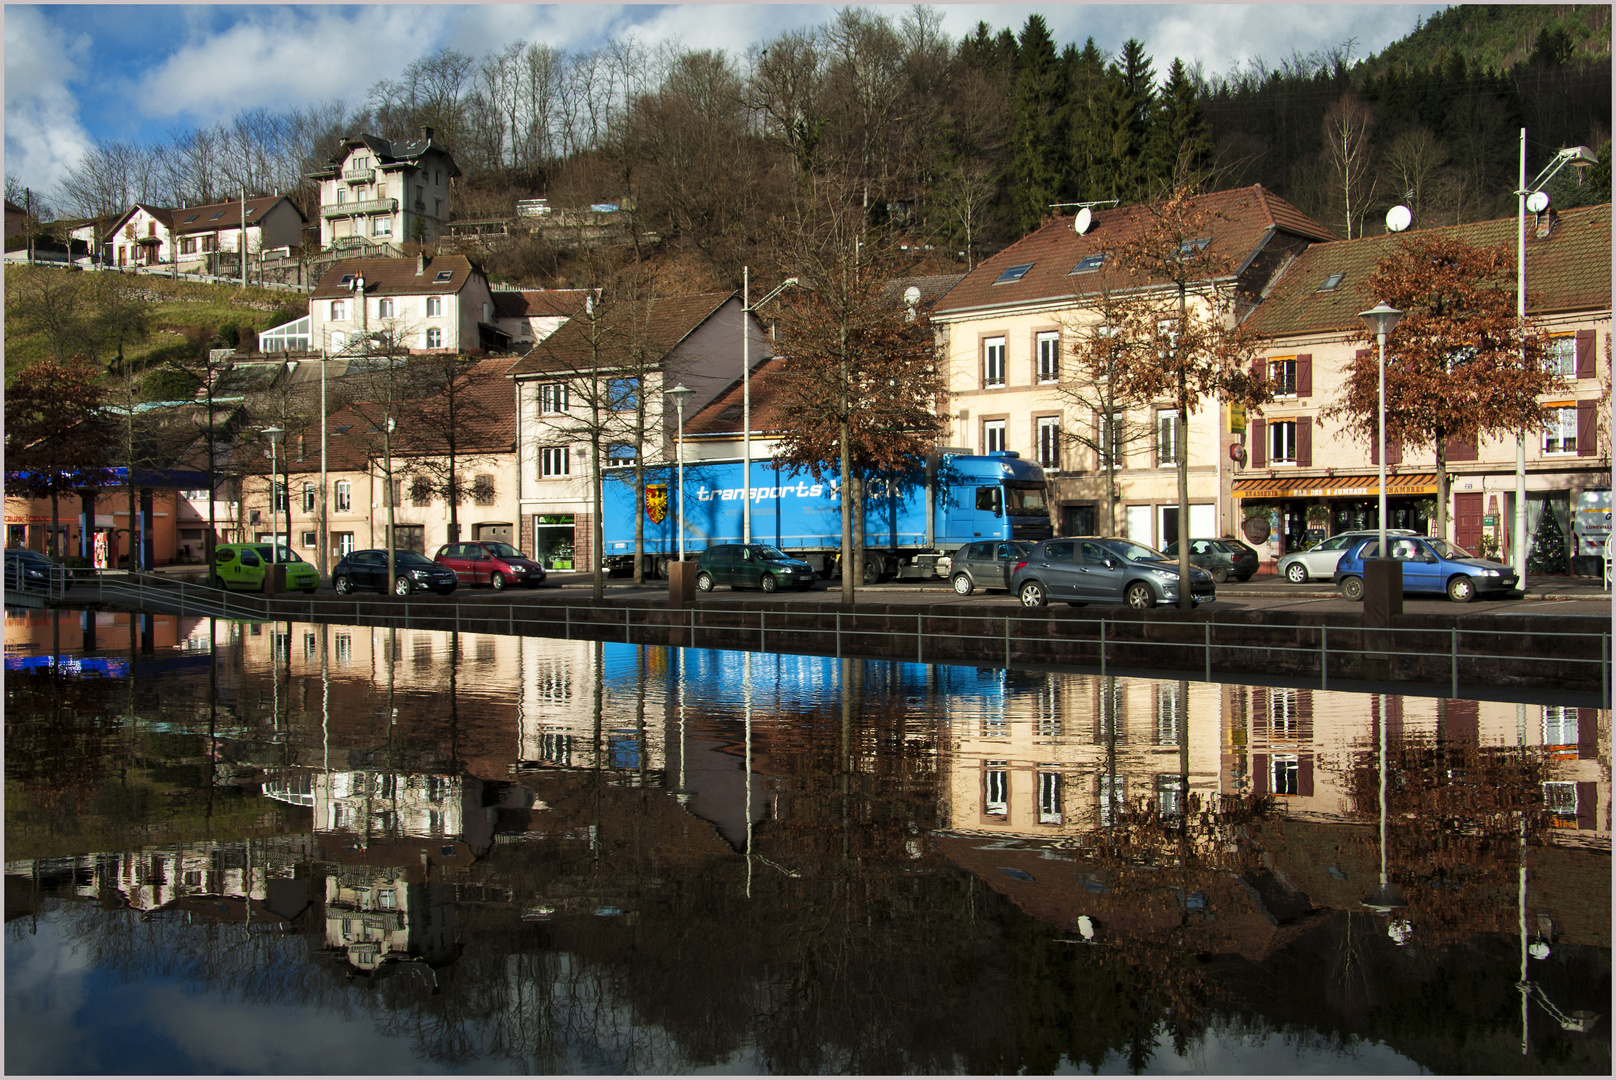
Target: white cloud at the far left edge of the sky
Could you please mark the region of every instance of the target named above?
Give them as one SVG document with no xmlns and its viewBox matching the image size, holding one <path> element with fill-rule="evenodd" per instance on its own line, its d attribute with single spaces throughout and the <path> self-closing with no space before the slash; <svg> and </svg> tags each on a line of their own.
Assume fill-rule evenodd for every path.
<svg viewBox="0 0 1616 1080">
<path fill-rule="evenodd" d="M 5 168 L 24 184 L 53 188 L 90 147 L 68 87 L 89 37 L 50 26 L 34 8 L 5 15 Z"/>
</svg>

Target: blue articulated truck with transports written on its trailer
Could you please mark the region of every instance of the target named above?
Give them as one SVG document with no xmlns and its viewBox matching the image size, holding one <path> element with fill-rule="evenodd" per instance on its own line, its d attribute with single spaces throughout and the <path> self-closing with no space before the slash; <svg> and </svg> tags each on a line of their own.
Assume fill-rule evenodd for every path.
<svg viewBox="0 0 1616 1080">
<path fill-rule="evenodd" d="M 677 470 L 645 469 L 646 569 L 666 577 L 679 558 Z M 743 500 L 751 500 L 751 540 L 772 543 L 805 559 L 821 577 L 839 572 L 842 493 L 835 482 L 816 482 L 806 469 L 751 462 L 751 491 L 742 488 L 740 461 L 685 462 L 685 555 L 714 543 L 742 543 Z M 604 475 L 604 559 L 612 572 L 633 571 L 633 470 Z M 939 559 L 973 540 L 1047 540 L 1044 470 L 1013 451 L 941 453 L 905 475 L 884 477 L 865 495 L 865 580 L 939 576 Z M 945 571 L 945 564 L 944 564 Z"/>
</svg>

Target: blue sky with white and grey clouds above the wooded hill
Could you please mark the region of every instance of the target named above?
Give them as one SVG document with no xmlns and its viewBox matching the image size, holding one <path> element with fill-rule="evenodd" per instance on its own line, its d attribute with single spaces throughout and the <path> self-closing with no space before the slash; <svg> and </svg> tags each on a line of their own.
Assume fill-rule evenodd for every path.
<svg viewBox="0 0 1616 1080">
<path fill-rule="evenodd" d="M 863 5 L 895 19 L 902 5 Z M 1107 53 L 1144 42 L 1155 71 L 1173 57 L 1222 74 L 1254 60 L 1353 44 L 1362 57 L 1443 5 L 992 5 L 942 3 L 953 39 L 978 21 L 1020 31 L 1039 13 L 1058 45 L 1094 37 Z M 370 86 L 419 57 L 472 55 L 512 40 L 566 50 L 635 36 L 654 47 L 740 57 L 789 29 L 827 23 L 835 5 L 6 5 L 5 171 L 47 194 L 95 141 L 165 142 L 173 131 L 333 99 L 359 107 Z"/>
</svg>

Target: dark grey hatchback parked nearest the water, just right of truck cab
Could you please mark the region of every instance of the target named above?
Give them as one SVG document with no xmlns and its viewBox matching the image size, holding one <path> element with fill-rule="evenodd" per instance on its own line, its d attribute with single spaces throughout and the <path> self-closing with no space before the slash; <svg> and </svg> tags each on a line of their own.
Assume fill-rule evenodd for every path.
<svg viewBox="0 0 1616 1080">
<path fill-rule="evenodd" d="M 1155 548 L 1118 537 L 1068 537 L 1033 545 L 1015 576 L 1010 592 L 1025 608 L 1041 608 L 1065 600 L 1075 608 L 1086 603 L 1125 603 L 1154 608 L 1178 603 L 1178 563 Z M 1212 576 L 1189 567 L 1189 595 L 1194 603 L 1217 598 Z"/>
</svg>

